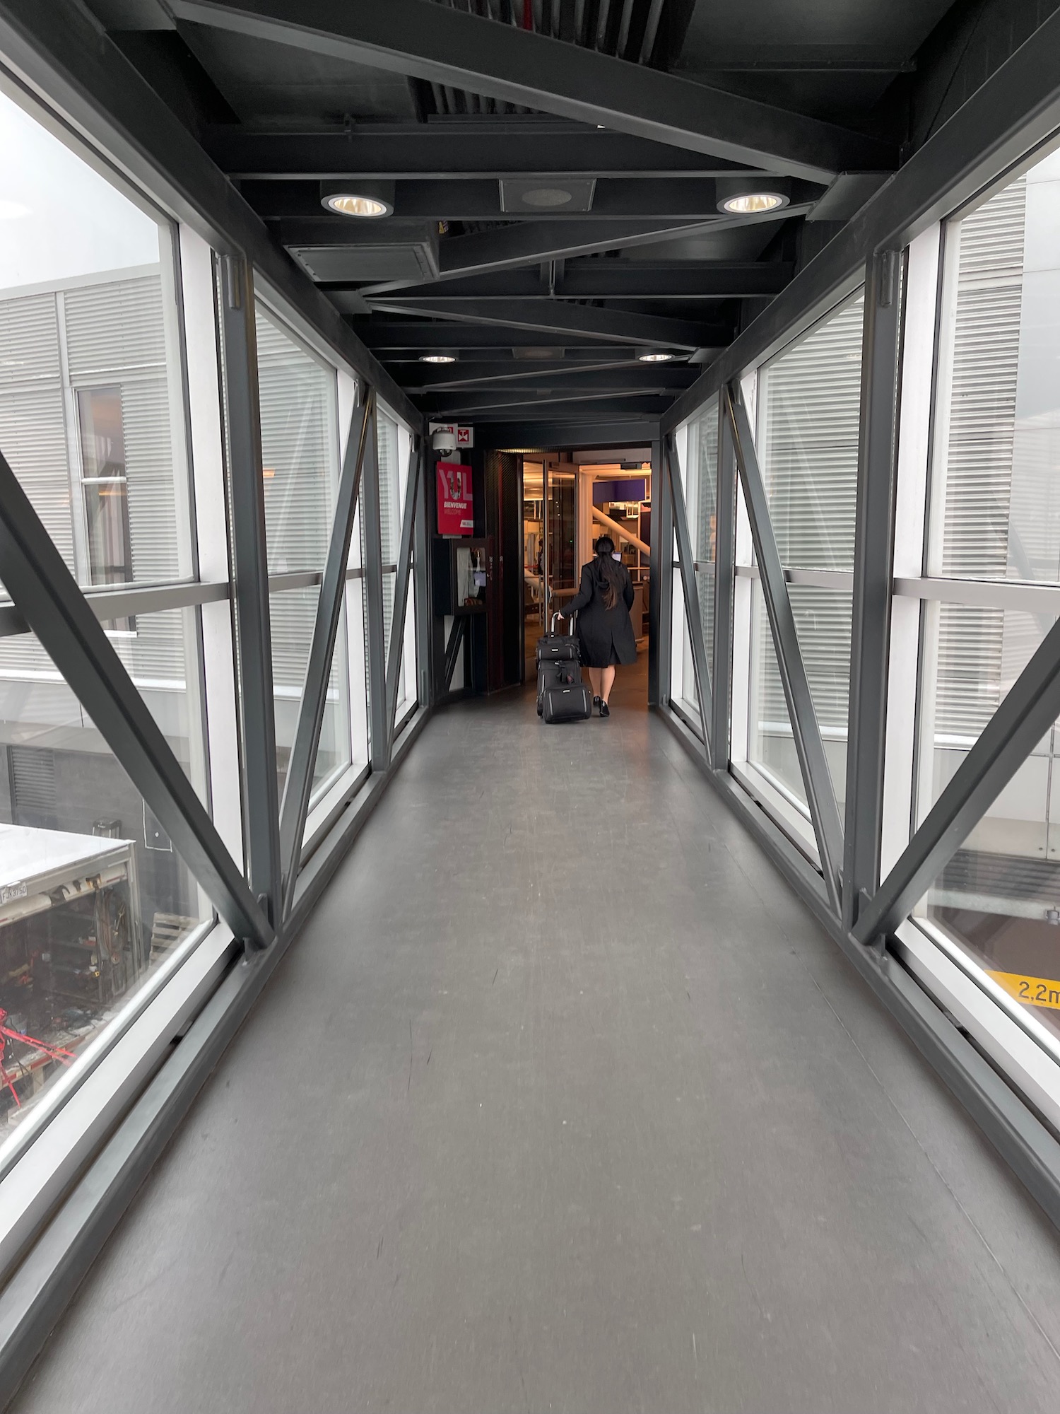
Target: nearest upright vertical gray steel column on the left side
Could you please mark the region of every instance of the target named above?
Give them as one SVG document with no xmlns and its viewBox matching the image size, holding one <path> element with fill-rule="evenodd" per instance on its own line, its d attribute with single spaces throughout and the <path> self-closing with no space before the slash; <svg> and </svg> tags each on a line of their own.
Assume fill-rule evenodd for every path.
<svg viewBox="0 0 1060 1414">
<path fill-rule="evenodd" d="M 281 913 L 280 796 L 276 779 L 273 642 L 269 626 L 269 553 L 261 484 L 254 283 L 240 256 L 218 257 L 229 546 L 236 625 L 240 776 L 247 877 L 266 901 L 270 922 Z"/>
</svg>

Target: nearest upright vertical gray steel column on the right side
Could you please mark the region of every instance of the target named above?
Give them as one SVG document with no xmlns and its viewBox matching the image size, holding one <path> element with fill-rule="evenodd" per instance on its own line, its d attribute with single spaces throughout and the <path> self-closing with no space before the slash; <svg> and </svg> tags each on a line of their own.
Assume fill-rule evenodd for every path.
<svg viewBox="0 0 1060 1414">
<path fill-rule="evenodd" d="M 900 338 L 900 255 L 882 250 L 865 271 L 842 865 L 842 922 L 848 929 L 858 916 L 858 899 L 879 885 Z"/>
</svg>

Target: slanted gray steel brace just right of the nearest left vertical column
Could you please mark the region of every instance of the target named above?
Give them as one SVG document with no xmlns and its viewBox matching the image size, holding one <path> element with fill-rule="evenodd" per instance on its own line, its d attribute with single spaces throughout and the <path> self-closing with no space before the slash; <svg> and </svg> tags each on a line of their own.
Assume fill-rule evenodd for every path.
<svg viewBox="0 0 1060 1414">
<path fill-rule="evenodd" d="M 312 795 L 312 768 L 317 762 L 317 747 L 321 740 L 324 710 L 328 701 L 328 679 L 335 653 L 335 639 L 339 632 L 342 605 L 346 598 L 346 567 L 349 564 L 349 542 L 353 533 L 353 518 L 358 509 L 360 468 L 365 460 L 365 440 L 372 414 L 369 402 L 360 416 L 360 427 L 351 427 L 346 455 L 342 460 L 338 492 L 335 495 L 335 520 L 331 527 L 328 559 L 324 564 L 321 594 L 317 600 L 317 618 L 310 642 L 310 659 L 305 665 L 305 684 L 298 707 L 298 725 L 294 732 L 291 756 L 287 762 L 287 779 L 280 806 L 280 863 L 283 867 L 283 918 L 291 912 L 294 885 L 298 880 L 302 831 L 310 812 Z"/>
</svg>

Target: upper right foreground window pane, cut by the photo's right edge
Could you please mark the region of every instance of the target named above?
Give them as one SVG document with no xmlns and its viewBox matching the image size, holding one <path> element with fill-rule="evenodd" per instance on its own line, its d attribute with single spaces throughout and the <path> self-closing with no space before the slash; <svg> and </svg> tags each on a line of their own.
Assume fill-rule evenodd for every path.
<svg viewBox="0 0 1060 1414">
<path fill-rule="evenodd" d="M 1060 153 L 946 232 L 929 573 L 1060 581 Z"/>
</svg>

